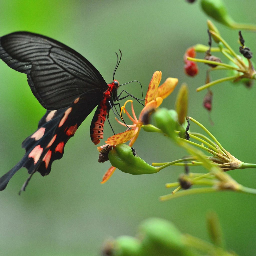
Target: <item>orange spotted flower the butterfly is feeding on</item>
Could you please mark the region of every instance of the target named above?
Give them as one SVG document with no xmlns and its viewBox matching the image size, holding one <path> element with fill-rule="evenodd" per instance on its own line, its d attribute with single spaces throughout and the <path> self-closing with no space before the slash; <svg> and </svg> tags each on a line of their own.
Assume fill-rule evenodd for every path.
<svg viewBox="0 0 256 256">
<path fill-rule="evenodd" d="M 148 121 L 148 116 L 155 111 L 156 108 L 158 108 L 162 102 L 163 99 L 168 97 L 173 90 L 175 89 L 178 79 L 177 78 L 167 78 L 165 82 L 159 86 L 160 81 L 162 78 L 162 72 L 161 71 L 156 71 L 153 74 L 153 77 L 149 83 L 147 94 L 145 97 L 145 107 L 142 109 L 139 118 L 137 119 L 135 115 L 135 111 L 133 108 L 133 101 L 132 100 L 127 100 L 124 105 L 121 108 L 122 115 L 126 114 L 128 118 L 132 121 L 132 124 L 124 124 L 120 122 L 119 120 L 118 123 L 125 127 L 129 127 L 126 129 L 125 132 L 115 134 L 111 137 L 109 137 L 105 142 L 110 145 L 117 145 L 119 143 L 125 143 L 130 140 L 129 146 L 132 147 L 134 142 L 137 140 L 137 137 L 140 133 L 141 127 L 144 124 L 147 124 L 146 120 Z M 129 114 L 129 112 L 126 110 L 125 106 L 128 102 L 131 102 L 131 111 L 132 115 Z M 104 145 L 105 146 L 105 145 Z M 104 147 L 102 146 L 102 147 Z M 102 148 L 100 147 L 100 148 Z M 111 166 L 108 171 L 105 173 L 103 176 L 102 182 L 105 183 L 110 176 L 114 173 L 115 167 Z"/>
</svg>

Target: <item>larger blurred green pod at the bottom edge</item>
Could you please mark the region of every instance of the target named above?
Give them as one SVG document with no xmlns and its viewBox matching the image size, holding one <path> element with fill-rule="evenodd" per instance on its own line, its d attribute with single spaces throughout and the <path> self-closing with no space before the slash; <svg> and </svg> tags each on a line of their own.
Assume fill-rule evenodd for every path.
<svg viewBox="0 0 256 256">
<path fill-rule="evenodd" d="M 151 218 L 140 226 L 139 237 L 147 256 L 195 256 L 182 239 L 180 231 L 169 221 Z"/>
</svg>

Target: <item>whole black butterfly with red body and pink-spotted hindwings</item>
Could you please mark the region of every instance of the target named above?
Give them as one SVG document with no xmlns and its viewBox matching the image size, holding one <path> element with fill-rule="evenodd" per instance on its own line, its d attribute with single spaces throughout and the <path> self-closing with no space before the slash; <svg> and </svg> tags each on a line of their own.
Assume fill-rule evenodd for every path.
<svg viewBox="0 0 256 256">
<path fill-rule="evenodd" d="M 27 75 L 31 91 L 47 109 L 36 132 L 22 143 L 26 150 L 23 158 L 0 178 L 0 190 L 4 190 L 10 178 L 25 167 L 30 174 L 25 190 L 35 172 L 42 176 L 50 173 L 52 162 L 63 156 L 65 144 L 97 105 L 90 135 L 95 145 L 100 142 L 106 117 L 121 99 L 117 95 L 119 82 L 113 79 L 107 84 L 81 54 L 39 34 L 22 31 L 0 37 L 0 58 Z"/>
</svg>

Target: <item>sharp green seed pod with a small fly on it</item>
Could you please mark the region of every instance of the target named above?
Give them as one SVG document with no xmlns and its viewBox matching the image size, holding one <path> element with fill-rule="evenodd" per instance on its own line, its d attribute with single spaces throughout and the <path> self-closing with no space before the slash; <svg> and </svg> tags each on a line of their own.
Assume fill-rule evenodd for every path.
<svg viewBox="0 0 256 256">
<path fill-rule="evenodd" d="M 118 144 L 109 152 L 110 163 L 124 173 L 150 174 L 159 172 L 158 167 L 147 164 L 139 156 L 134 156 L 126 144 Z"/>
</svg>

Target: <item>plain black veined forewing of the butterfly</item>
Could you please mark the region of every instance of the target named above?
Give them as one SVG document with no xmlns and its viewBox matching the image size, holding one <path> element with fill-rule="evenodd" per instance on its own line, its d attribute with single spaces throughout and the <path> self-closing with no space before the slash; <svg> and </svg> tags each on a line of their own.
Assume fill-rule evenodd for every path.
<svg viewBox="0 0 256 256">
<path fill-rule="evenodd" d="M 69 106 L 87 90 L 108 88 L 86 58 L 46 36 L 29 32 L 2 36 L 0 58 L 12 69 L 27 74 L 33 94 L 48 110 Z"/>
</svg>

